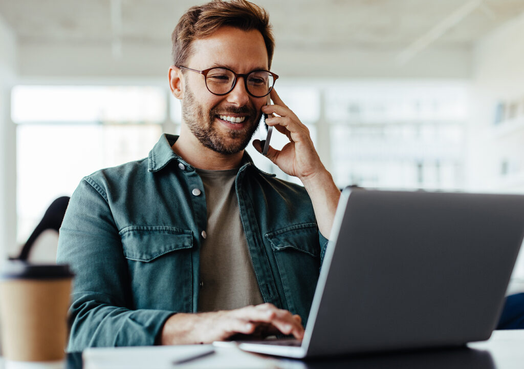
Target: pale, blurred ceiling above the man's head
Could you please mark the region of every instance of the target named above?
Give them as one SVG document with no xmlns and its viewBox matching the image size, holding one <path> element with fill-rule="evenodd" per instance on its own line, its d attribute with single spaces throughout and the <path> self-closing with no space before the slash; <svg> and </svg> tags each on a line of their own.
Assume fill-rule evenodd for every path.
<svg viewBox="0 0 524 369">
<path fill-rule="evenodd" d="M 341 68 L 348 69 L 350 75 L 358 75 L 359 71 L 363 76 L 373 76 L 374 72 L 380 75 L 394 65 L 397 69 L 404 66 L 409 72 L 416 70 L 410 64 L 417 62 L 421 69 L 425 65 L 430 71 L 432 68 L 437 71 L 438 66 L 428 67 L 426 62 L 434 60 L 437 54 L 445 59 L 440 64 L 445 66 L 449 62 L 450 70 L 453 62 L 460 64 L 456 68 L 465 70 L 471 61 L 472 46 L 479 38 L 524 12 L 523 0 L 259 0 L 256 3 L 270 14 L 279 74 L 283 68 L 290 75 L 305 75 L 311 68 L 325 65 L 326 60 L 333 62 L 329 72 L 321 72 L 326 76 L 335 76 L 335 71 Z M 80 63 L 77 71 L 83 66 L 88 75 L 111 74 L 117 63 L 124 68 L 124 75 L 140 75 L 137 68 L 145 68 L 148 71 L 144 75 L 153 76 L 160 64 L 168 62 L 171 31 L 192 5 L 195 2 L 188 0 L 2 0 L 0 15 L 16 35 L 19 54 L 24 59 L 20 62 L 21 75 L 30 75 L 30 70 L 35 70 L 36 60 L 27 60 L 35 58 L 40 59 L 43 74 L 46 70 L 50 75 L 67 72 L 68 68 L 53 69 L 54 55 L 64 62 Z M 124 60 L 108 60 L 107 68 L 96 62 L 93 68 L 67 55 L 68 50 L 77 53 L 77 59 L 93 55 Z M 145 61 L 129 61 L 137 55 L 160 62 L 151 61 L 155 69 L 148 69 Z M 387 67 L 383 59 L 387 59 Z M 381 70 L 380 63 L 386 69 Z M 130 67 L 126 69 L 127 64 Z"/>
</svg>

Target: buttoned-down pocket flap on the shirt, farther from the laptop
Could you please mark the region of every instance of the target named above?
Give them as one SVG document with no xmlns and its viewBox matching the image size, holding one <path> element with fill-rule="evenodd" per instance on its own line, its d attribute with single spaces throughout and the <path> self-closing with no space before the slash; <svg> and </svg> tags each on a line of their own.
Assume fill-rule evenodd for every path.
<svg viewBox="0 0 524 369">
<path fill-rule="evenodd" d="M 168 226 L 130 226 L 119 232 L 124 256 L 129 260 L 151 261 L 168 252 L 190 249 L 190 230 Z"/>
</svg>

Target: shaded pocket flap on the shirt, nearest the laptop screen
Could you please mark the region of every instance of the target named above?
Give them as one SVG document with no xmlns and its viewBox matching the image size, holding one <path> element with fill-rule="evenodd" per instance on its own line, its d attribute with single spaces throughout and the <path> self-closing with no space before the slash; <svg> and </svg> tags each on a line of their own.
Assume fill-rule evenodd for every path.
<svg viewBox="0 0 524 369">
<path fill-rule="evenodd" d="M 267 233 L 265 237 L 269 240 L 271 248 L 277 251 L 292 248 L 313 257 L 320 254 L 316 223 L 297 224 L 282 228 Z"/>
</svg>

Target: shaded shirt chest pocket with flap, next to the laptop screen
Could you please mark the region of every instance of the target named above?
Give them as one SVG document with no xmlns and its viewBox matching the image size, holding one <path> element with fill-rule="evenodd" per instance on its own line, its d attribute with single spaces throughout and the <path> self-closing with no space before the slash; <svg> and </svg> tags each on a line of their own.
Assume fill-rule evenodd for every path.
<svg viewBox="0 0 524 369">
<path fill-rule="evenodd" d="M 315 223 L 268 233 L 289 310 L 307 323 L 320 270 L 319 233 Z"/>
</svg>

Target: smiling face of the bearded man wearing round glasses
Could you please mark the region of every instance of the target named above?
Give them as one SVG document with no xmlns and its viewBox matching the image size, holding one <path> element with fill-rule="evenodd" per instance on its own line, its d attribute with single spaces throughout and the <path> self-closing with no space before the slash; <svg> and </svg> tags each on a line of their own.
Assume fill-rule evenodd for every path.
<svg viewBox="0 0 524 369">
<path fill-rule="evenodd" d="M 236 73 L 268 69 L 267 50 L 259 31 L 222 27 L 213 35 L 194 40 L 193 54 L 184 67 L 203 70 L 226 67 Z M 182 117 L 192 134 L 209 149 L 234 154 L 245 149 L 260 120 L 266 97 L 250 96 L 244 78 L 224 96 L 216 96 L 205 86 L 202 75 L 184 71 L 185 90 Z M 233 120 L 233 121 L 230 121 Z"/>
</svg>

